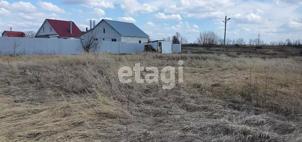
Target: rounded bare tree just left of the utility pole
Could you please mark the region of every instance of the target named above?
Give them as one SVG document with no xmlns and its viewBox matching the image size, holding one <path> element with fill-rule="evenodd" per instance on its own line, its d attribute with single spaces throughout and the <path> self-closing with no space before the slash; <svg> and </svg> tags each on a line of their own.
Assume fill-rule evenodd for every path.
<svg viewBox="0 0 302 142">
<path fill-rule="evenodd" d="M 220 36 L 214 31 L 200 32 L 197 38 L 198 44 L 204 45 L 206 50 L 210 50 L 213 45 L 217 44 Z"/>
</svg>

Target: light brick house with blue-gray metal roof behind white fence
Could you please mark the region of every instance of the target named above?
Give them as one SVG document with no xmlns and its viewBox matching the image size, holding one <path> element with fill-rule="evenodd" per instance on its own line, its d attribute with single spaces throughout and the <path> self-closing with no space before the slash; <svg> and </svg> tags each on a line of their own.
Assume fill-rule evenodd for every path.
<svg viewBox="0 0 302 142">
<path fill-rule="evenodd" d="M 113 20 L 101 20 L 97 25 L 95 22 L 92 28 L 90 20 L 90 30 L 80 35 L 96 34 L 95 40 L 120 41 L 127 43 L 147 43 L 149 36 L 133 23 L 126 23 Z"/>
</svg>

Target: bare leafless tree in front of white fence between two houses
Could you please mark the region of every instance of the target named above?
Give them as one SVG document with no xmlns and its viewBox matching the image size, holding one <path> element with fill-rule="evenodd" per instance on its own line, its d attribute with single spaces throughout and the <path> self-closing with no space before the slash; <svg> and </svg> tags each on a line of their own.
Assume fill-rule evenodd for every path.
<svg viewBox="0 0 302 142">
<path fill-rule="evenodd" d="M 90 51 L 95 52 L 100 48 L 101 40 L 97 38 L 97 32 L 86 32 L 81 37 L 82 48 L 85 52 L 89 53 Z"/>
</svg>

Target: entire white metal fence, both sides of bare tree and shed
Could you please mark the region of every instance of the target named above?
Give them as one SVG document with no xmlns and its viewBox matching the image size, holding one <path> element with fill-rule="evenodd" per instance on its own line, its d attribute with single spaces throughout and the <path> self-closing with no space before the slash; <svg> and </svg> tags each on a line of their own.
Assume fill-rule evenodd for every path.
<svg viewBox="0 0 302 142">
<path fill-rule="evenodd" d="M 146 43 L 101 41 L 100 53 L 111 51 L 113 54 L 135 54 L 143 52 L 144 45 Z M 172 47 L 180 52 L 178 44 L 172 44 Z M 81 52 L 83 52 L 83 49 L 80 40 L 0 37 L 0 55 L 79 54 Z"/>
</svg>

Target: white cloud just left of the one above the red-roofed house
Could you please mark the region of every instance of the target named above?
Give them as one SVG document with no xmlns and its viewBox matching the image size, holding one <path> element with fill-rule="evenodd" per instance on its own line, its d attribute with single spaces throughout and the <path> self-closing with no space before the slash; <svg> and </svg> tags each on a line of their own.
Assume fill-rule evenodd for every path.
<svg viewBox="0 0 302 142">
<path fill-rule="evenodd" d="M 30 2 L 23 2 L 23 1 L 14 2 L 10 4 L 9 7 L 14 11 L 19 11 L 22 13 L 32 13 L 37 11 L 37 8 L 34 5 L 32 5 Z"/>
</svg>

